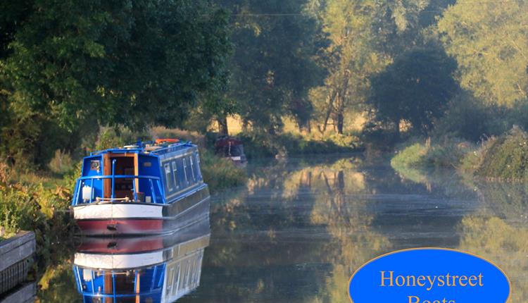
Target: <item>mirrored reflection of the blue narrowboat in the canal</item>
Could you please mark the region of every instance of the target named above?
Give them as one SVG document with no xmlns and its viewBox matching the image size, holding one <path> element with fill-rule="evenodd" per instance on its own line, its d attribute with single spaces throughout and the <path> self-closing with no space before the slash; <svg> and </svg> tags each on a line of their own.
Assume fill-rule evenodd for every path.
<svg viewBox="0 0 528 303">
<path fill-rule="evenodd" d="M 86 238 L 73 271 L 83 302 L 174 302 L 200 283 L 209 222 L 172 235 Z"/>
</svg>

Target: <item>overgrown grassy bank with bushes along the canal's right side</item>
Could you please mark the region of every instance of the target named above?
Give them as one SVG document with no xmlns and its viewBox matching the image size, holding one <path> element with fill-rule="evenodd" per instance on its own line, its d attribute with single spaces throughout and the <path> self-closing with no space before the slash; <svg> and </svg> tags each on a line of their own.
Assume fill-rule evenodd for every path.
<svg viewBox="0 0 528 303">
<path fill-rule="evenodd" d="M 414 140 L 396 152 L 391 166 L 397 171 L 455 168 L 486 180 L 528 180 L 528 134 L 514 127 L 479 145 L 457 138 Z"/>
</svg>

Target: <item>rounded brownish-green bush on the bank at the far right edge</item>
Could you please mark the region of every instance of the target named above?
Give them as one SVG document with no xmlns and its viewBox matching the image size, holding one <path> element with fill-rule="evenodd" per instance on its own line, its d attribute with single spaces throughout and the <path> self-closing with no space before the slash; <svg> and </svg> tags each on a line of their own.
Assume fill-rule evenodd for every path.
<svg viewBox="0 0 528 303">
<path fill-rule="evenodd" d="M 475 173 L 499 180 L 528 180 L 528 134 L 514 127 L 485 144 Z"/>
</svg>

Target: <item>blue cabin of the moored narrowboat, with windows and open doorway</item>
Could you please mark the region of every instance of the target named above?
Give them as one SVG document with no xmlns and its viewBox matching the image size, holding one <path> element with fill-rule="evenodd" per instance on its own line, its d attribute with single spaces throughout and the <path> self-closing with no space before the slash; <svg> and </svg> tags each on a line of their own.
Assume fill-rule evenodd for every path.
<svg viewBox="0 0 528 303">
<path fill-rule="evenodd" d="M 203 186 L 196 145 L 171 143 L 139 143 L 85 157 L 73 206 L 94 202 L 168 204 Z"/>
</svg>

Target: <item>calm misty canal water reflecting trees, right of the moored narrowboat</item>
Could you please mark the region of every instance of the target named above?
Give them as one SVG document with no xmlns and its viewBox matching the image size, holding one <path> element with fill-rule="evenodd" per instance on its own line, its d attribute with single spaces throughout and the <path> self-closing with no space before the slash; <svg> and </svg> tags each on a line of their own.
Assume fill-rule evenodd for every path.
<svg viewBox="0 0 528 303">
<path fill-rule="evenodd" d="M 185 293 L 177 302 L 350 302 L 348 280 L 357 268 L 410 247 L 461 249 L 494 261 L 512 282 L 510 302 L 528 302 L 527 185 L 477 183 L 455 171 L 394 171 L 360 156 L 253 161 L 247 170 L 246 186 L 211 198 L 210 230 L 164 240 L 176 274 L 155 284 Z M 104 254 L 80 254 L 86 246 L 70 249 L 39 278 L 40 302 L 82 302 L 79 292 L 100 273 L 78 265 L 108 264 Z M 144 259 L 135 261 L 135 272 L 146 275 Z"/>
</svg>

